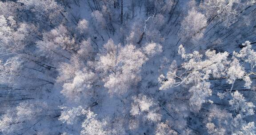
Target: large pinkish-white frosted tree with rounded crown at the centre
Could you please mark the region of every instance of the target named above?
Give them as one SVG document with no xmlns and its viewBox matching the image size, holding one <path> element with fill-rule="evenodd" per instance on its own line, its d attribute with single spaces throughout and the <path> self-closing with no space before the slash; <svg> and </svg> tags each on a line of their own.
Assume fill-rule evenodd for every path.
<svg viewBox="0 0 256 135">
<path fill-rule="evenodd" d="M 139 82 L 140 68 L 148 58 L 132 44 L 121 47 L 108 40 L 104 48 L 107 54 L 100 55 L 98 63 L 99 70 L 107 75 L 104 86 L 110 93 L 125 93 Z"/>
</svg>

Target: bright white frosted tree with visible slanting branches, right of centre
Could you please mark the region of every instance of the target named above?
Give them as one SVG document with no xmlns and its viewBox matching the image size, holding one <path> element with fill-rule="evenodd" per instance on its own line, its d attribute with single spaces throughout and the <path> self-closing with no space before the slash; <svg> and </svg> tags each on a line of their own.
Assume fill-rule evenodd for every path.
<svg viewBox="0 0 256 135">
<path fill-rule="evenodd" d="M 180 45 L 178 53 L 184 60 L 187 60 L 187 62 L 181 65 L 181 68 L 184 68 L 184 72 L 179 71 L 181 68 L 178 68 L 174 61 L 169 68 L 167 76 L 160 75 L 159 77 L 162 83 L 160 90 L 178 87 L 181 84 L 192 84 L 192 87 L 189 89 L 192 93 L 190 103 L 200 107 L 212 93 L 209 88 L 210 83 L 207 82 L 209 75 L 212 74 L 214 77 L 221 75 L 219 71 L 224 70 L 220 70 L 220 68 L 226 66 L 228 53 L 216 54 L 215 51 L 208 51 L 206 52 L 208 60 L 202 60 L 202 55 L 199 52 L 195 51 L 192 54 L 185 54 L 182 45 Z M 186 75 L 187 73 L 188 76 Z M 182 77 L 183 75 L 185 76 Z"/>
</svg>

